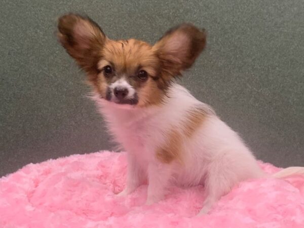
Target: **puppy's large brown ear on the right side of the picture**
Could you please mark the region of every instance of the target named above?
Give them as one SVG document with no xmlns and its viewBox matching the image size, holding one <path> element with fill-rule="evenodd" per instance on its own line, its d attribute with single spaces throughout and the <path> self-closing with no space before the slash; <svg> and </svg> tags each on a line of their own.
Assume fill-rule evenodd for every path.
<svg viewBox="0 0 304 228">
<path fill-rule="evenodd" d="M 162 70 L 176 76 L 192 66 L 206 45 L 206 32 L 191 24 L 170 29 L 154 45 Z"/>
</svg>

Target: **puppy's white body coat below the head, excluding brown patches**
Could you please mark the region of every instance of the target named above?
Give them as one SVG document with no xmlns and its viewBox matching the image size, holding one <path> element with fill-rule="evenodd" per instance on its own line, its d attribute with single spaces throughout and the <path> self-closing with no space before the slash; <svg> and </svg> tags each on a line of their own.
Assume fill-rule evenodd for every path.
<svg viewBox="0 0 304 228">
<path fill-rule="evenodd" d="M 266 176 L 248 147 L 236 132 L 222 122 L 206 104 L 195 99 L 183 87 L 173 84 L 160 106 L 138 108 L 115 105 L 98 95 L 93 97 L 108 123 L 110 132 L 128 152 L 128 195 L 148 181 L 146 204 L 161 200 L 169 184 L 205 184 L 206 200 L 201 213 L 242 180 Z M 169 129 L 181 131 L 188 110 L 203 106 L 208 117 L 191 138 L 182 141 L 183 165 L 161 163 L 156 148 L 167 141 Z M 290 173 L 289 173 L 290 174 Z"/>
</svg>

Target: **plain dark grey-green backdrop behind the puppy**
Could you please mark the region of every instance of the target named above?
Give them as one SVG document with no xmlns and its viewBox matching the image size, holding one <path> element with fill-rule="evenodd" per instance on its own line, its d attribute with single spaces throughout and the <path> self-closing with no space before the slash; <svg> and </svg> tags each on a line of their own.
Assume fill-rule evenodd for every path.
<svg viewBox="0 0 304 228">
<path fill-rule="evenodd" d="M 258 159 L 304 166 L 304 1 L 2 0 L 0 176 L 28 163 L 111 149 L 56 19 L 86 13 L 112 39 L 154 43 L 192 22 L 208 45 L 180 83 L 211 104 Z"/>
</svg>

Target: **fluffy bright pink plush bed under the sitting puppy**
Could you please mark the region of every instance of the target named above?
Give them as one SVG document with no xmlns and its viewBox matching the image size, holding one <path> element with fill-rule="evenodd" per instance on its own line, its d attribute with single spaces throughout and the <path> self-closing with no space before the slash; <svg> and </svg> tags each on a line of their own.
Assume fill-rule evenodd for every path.
<svg viewBox="0 0 304 228">
<path fill-rule="evenodd" d="M 261 164 L 269 173 L 279 169 Z M 126 198 L 126 154 L 73 155 L 29 164 L 0 179 L 0 227 L 304 227 L 304 177 L 242 182 L 196 217 L 203 186 L 171 187 L 143 205 L 147 186 Z"/>
</svg>

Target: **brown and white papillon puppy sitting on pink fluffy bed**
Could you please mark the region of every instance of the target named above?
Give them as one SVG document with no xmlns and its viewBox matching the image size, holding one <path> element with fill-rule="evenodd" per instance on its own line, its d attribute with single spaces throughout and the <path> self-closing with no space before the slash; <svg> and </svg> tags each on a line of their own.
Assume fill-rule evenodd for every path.
<svg viewBox="0 0 304 228">
<path fill-rule="evenodd" d="M 239 135 L 207 104 L 176 84 L 206 46 L 206 32 L 192 24 L 167 31 L 154 45 L 114 41 L 88 17 L 59 18 L 58 37 L 87 73 L 93 99 L 116 141 L 127 151 L 127 196 L 147 182 L 150 205 L 170 184 L 204 184 L 200 214 L 249 178 L 268 177 Z M 290 167 L 274 177 L 304 173 Z"/>
</svg>

